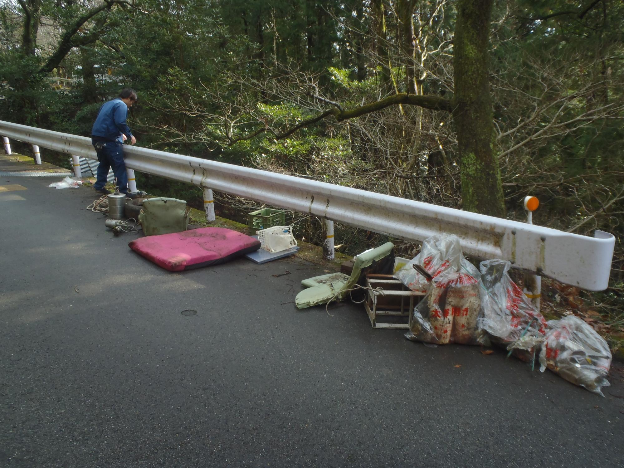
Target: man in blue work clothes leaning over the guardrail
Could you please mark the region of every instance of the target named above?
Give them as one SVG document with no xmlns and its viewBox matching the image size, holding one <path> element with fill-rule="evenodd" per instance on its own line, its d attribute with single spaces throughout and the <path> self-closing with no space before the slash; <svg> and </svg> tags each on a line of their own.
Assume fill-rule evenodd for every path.
<svg viewBox="0 0 624 468">
<path fill-rule="evenodd" d="M 110 193 L 104 188 L 109 168 L 117 178 L 117 186 L 120 193 L 125 193 L 129 198 L 136 198 L 136 193 L 128 193 L 128 175 L 125 172 L 124 141 L 134 145 L 137 139 L 130 132 L 130 127 L 125 123 L 128 108 L 137 102 L 137 93 L 127 88 L 119 93 L 117 99 L 105 102 L 97 114 L 95 124 L 91 130 L 91 143 L 97 152 L 97 180 L 94 188 L 98 193 Z"/>
</svg>

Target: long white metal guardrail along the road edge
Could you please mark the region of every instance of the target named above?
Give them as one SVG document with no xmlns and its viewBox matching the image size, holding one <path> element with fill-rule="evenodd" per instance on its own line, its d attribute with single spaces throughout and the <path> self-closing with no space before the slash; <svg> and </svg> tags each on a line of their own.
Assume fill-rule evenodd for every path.
<svg viewBox="0 0 624 468">
<path fill-rule="evenodd" d="M 0 135 L 97 159 L 91 140 L 0 120 Z M 407 241 L 454 234 L 464 253 L 590 291 L 608 286 L 615 237 L 594 237 L 495 218 L 331 183 L 126 145 L 128 168 L 345 223 Z M 331 223 L 330 223 L 331 225 Z"/>
</svg>

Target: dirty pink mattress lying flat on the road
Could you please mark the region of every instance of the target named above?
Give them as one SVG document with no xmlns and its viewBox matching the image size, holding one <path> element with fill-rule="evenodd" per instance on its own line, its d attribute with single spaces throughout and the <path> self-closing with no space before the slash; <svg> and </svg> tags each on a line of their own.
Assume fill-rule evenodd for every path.
<svg viewBox="0 0 624 468">
<path fill-rule="evenodd" d="M 169 271 L 225 263 L 260 248 L 260 241 L 226 228 L 199 228 L 146 236 L 128 246 Z"/>
</svg>

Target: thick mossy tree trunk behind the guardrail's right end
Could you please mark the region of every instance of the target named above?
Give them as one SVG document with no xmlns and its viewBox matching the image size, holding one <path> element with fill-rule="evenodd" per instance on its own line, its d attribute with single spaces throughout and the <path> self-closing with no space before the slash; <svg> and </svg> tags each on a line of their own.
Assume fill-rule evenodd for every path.
<svg viewBox="0 0 624 468">
<path fill-rule="evenodd" d="M 454 39 L 453 120 L 461 155 L 462 208 L 505 216 L 488 82 L 493 0 L 458 0 Z"/>
</svg>

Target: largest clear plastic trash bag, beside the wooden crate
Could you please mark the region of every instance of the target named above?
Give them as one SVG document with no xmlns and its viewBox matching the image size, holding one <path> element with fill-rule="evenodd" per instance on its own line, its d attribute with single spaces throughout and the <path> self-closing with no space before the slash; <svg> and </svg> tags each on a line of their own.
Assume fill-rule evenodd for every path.
<svg viewBox="0 0 624 468">
<path fill-rule="evenodd" d="M 429 275 L 414 270 L 414 263 Z M 425 240 L 421 253 L 396 276 L 414 291 L 427 291 L 414 308 L 407 339 L 434 344 L 481 344 L 477 329 L 481 309 L 479 271 L 462 254 L 457 236 Z"/>
</svg>

